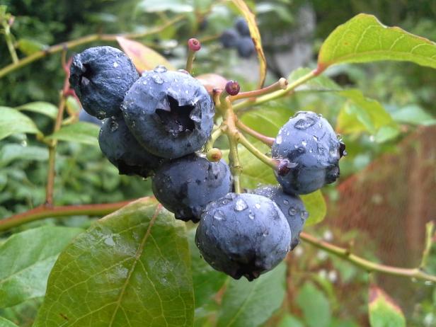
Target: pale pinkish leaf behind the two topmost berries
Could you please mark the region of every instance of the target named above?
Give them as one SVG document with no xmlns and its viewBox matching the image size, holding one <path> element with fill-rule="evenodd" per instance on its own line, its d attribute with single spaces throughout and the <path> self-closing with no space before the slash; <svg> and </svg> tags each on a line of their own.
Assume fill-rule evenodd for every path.
<svg viewBox="0 0 436 327">
<path fill-rule="evenodd" d="M 161 54 L 137 41 L 128 40 L 119 36 L 117 37 L 117 42 L 127 56 L 132 59 L 134 67 L 136 67 L 139 72 L 154 69 L 154 67 L 159 66 L 159 64 L 165 66 L 167 69 L 176 70 Z"/>
</svg>

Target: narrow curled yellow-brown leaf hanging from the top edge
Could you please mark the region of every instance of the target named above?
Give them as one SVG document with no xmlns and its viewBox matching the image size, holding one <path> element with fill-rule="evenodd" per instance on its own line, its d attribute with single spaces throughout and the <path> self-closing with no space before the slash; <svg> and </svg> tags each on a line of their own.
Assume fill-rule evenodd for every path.
<svg viewBox="0 0 436 327">
<path fill-rule="evenodd" d="M 254 47 L 256 48 L 256 52 L 258 52 L 258 60 L 259 60 L 258 88 L 262 88 L 263 84 L 265 83 L 265 76 L 266 76 L 266 59 L 265 59 L 265 54 L 263 53 L 262 40 L 260 40 L 258 25 L 256 24 L 256 16 L 250 10 L 250 8 L 248 8 L 245 1 L 232 0 L 232 2 L 235 4 L 235 6 L 241 12 L 243 18 L 245 18 L 248 23 L 251 39 L 253 40 Z"/>
</svg>

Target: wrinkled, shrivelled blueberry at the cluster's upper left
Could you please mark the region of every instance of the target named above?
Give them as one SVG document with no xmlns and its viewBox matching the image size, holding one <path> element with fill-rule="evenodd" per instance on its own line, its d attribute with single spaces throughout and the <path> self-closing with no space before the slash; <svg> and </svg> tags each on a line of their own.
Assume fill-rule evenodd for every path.
<svg viewBox="0 0 436 327">
<path fill-rule="evenodd" d="M 81 105 L 98 119 L 120 113 L 125 93 L 137 79 L 132 61 L 115 47 L 90 47 L 76 54 L 69 75 Z"/>
</svg>

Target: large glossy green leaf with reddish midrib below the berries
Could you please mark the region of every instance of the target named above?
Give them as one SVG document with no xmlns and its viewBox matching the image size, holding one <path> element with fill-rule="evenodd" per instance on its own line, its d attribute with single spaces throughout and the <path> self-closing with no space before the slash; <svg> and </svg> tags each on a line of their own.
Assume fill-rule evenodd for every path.
<svg viewBox="0 0 436 327">
<path fill-rule="evenodd" d="M 61 253 L 34 326 L 192 326 L 193 315 L 185 224 L 143 198 Z"/>
</svg>

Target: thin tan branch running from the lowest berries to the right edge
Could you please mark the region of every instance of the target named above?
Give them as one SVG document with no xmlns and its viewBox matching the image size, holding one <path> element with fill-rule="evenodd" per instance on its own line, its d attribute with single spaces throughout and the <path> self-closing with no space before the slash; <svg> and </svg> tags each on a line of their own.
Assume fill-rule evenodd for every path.
<svg viewBox="0 0 436 327">
<path fill-rule="evenodd" d="M 409 277 L 415 278 L 417 280 L 430 280 L 432 282 L 436 282 L 436 276 L 429 275 L 428 273 L 420 270 L 420 268 L 398 268 L 392 267 L 390 265 L 382 265 L 379 263 L 373 263 L 370 260 L 360 258 L 359 256 L 355 256 L 350 253 L 350 251 L 346 248 L 340 248 L 339 246 L 334 246 L 331 243 L 327 243 L 325 241 L 321 241 L 316 239 L 314 236 L 306 234 L 302 232 L 300 237 L 303 241 L 315 246 L 316 248 L 320 248 L 323 251 L 331 253 L 339 258 L 343 258 L 344 260 L 352 263 L 353 265 L 366 270 L 367 272 L 381 272 L 386 275 L 393 275 L 399 277 Z"/>
</svg>

